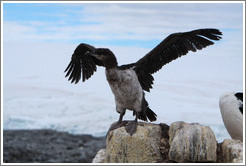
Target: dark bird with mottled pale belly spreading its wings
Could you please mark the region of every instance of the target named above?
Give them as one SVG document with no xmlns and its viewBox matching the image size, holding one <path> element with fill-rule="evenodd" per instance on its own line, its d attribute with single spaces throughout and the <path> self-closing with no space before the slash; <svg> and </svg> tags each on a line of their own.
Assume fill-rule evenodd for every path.
<svg viewBox="0 0 246 166">
<path fill-rule="evenodd" d="M 89 79 L 97 66 L 106 68 L 107 81 L 115 96 L 116 111 L 120 114 L 118 122 L 111 130 L 122 125 L 133 135 L 137 129 L 137 120 L 155 121 L 156 114 L 149 108 L 144 91 L 152 88 L 153 73 L 165 64 L 189 51 L 201 50 L 220 40 L 222 33 L 217 29 L 198 29 L 184 33 L 173 33 L 154 49 L 135 63 L 119 66 L 114 53 L 108 48 L 95 48 L 82 43 L 74 51 L 65 72 L 71 83 Z M 122 119 L 126 109 L 133 111 L 135 120 L 124 124 Z"/>
</svg>

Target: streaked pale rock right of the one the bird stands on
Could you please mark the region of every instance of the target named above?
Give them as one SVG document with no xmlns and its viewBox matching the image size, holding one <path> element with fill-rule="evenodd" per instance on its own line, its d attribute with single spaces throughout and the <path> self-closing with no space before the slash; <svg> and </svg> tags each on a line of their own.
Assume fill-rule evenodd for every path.
<svg viewBox="0 0 246 166">
<path fill-rule="evenodd" d="M 217 142 L 213 131 L 199 124 L 172 123 L 169 159 L 175 162 L 215 162 Z"/>
</svg>

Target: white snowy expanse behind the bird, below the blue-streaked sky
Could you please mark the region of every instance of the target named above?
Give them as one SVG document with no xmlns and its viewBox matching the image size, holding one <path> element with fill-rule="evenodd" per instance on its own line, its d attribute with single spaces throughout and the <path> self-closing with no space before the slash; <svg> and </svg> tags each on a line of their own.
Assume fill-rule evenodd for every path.
<svg viewBox="0 0 246 166">
<path fill-rule="evenodd" d="M 103 68 L 84 83 L 71 84 L 64 78 L 76 46 L 4 43 L 4 129 L 55 129 L 100 136 L 118 120 Z M 119 64 L 135 62 L 149 51 L 110 49 Z M 154 86 L 146 92 L 146 99 L 158 116 L 155 123 L 200 123 L 210 126 L 219 142 L 230 138 L 221 118 L 219 97 L 227 91 L 243 91 L 243 57 L 225 52 L 226 48 L 216 43 L 154 74 Z M 124 119 L 134 119 L 132 112 L 128 111 Z"/>
</svg>

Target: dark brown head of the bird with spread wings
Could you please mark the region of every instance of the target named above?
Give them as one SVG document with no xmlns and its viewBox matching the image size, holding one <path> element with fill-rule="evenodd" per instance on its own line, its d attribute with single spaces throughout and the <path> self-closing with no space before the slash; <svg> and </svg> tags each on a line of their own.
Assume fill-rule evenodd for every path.
<svg viewBox="0 0 246 166">
<path fill-rule="evenodd" d="M 113 68 L 118 65 L 116 57 L 110 49 L 98 48 L 89 54 L 94 56 L 97 60 L 101 61 L 106 68 Z"/>
</svg>

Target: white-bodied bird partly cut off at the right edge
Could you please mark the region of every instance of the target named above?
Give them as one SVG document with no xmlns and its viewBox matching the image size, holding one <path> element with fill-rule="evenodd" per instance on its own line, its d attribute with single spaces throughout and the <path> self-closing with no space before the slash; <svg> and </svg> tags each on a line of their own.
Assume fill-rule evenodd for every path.
<svg viewBox="0 0 246 166">
<path fill-rule="evenodd" d="M 231 138 L 243 141 L 243 93 L 224 93 L 220 96 L 219 105 Z"/>
</svg>

